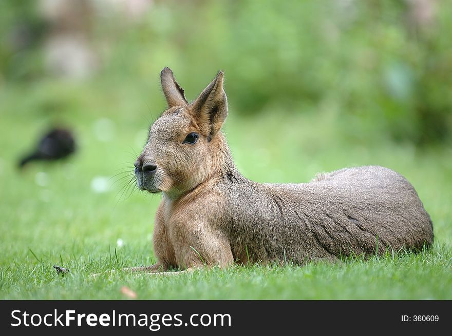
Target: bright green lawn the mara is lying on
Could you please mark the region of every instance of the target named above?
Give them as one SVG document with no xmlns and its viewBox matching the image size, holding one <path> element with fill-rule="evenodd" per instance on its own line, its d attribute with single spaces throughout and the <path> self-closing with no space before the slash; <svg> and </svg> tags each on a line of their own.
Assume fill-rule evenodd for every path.
<svg viewBox="0 0 452 336">
<path fill-rule="evenodd" d="M 42 82 L 0 92 L 1 299 L 121 299 L 123 285 L 139 299 L 452 299 L 450 147 L 419 150 L 394 144 L 385 134 L 366 134 L 372 125 L 322 108 L 264 109 L 238 117 L 233 96 L 225 133 L 244 175 L 260 182 L 306 182 L 318 171 L 390 167 L 417 189 L 434 222 L 434 246 L 419 254 L 304 267 L 233 266 L 169 278 L 127 273 L 91 278 L 90 273 L 155 262 L 152 229 L 160 196 L 131 189 L 121 196 L 126 180 L 96 193 L 91 182 L 119 173 L 113 182 L 131 171 L 151 114 L 164 107 L 157 93 L 148 97 L 143 87 L 100 82 Z M 101 117 L 114 125 L 108 141 L 96 135 Z M 17 171 L 18 156 L 55 120 L 74 128 L 78 153 L 65 162 Z M 60 278 L 55 264 L 71 274 Z"/>
</svg>

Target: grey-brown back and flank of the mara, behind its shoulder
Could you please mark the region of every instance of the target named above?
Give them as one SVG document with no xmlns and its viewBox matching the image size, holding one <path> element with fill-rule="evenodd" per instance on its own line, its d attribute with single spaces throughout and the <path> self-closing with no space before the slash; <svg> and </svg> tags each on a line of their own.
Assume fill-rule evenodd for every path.
<svg viewBox="0 0 452 336">
<path fill-rule="evenodd" d="M 418 194 L 400 174 L 379 166 L 320 174 L 303 184 L 227 181 L 222 226 L 234 259 L 294 262 L 340 255 L 419 250 L 433 241 Z"/>
</svg>

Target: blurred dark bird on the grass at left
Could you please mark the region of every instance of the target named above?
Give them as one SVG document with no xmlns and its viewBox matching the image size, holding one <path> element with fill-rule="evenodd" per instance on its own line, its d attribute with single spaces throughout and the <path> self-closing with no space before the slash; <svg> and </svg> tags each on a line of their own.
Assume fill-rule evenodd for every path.
<svg viewBox="0 0 452 336">
<path fill-rule="evenodd" d="M 76 141 L 72 133 L 63 128 L 54 128 L 45 134 L 36 149 L 25 156 L 19 163 L 20 168 L 35 160 L 58 160 L 76 150 Z"/>
</svg>

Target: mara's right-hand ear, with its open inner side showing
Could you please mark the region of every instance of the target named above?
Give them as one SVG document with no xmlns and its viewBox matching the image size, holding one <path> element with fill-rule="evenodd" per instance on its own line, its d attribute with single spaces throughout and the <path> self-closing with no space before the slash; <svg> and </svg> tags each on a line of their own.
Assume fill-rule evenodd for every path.
<svg viewBox="0 0 452 336">
<path fill-rule="evenodd" d="M 223 71 L 218 71 L 214 80 L 190 107 L 199 128 L 210 141 L 221 129 L 228 115 L 228 100 L 223 90 Z"/>
</svg>

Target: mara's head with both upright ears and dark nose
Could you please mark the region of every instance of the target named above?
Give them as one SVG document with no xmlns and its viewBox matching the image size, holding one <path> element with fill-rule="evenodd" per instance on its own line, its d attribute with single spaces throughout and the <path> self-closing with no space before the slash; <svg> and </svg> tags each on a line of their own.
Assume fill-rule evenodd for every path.
<svg viewBox="0 0 452 336">
<path fill-rule="evenodd" d="M 228 102 L 222 71 L 192 103 L 185 99 L 171 69 L 164 68 L 160 79 L 168 108 L 149 130 L 135 162 L 135 175 L 142 190 L 177 195 L 216 171 Z"/>
</svg>

